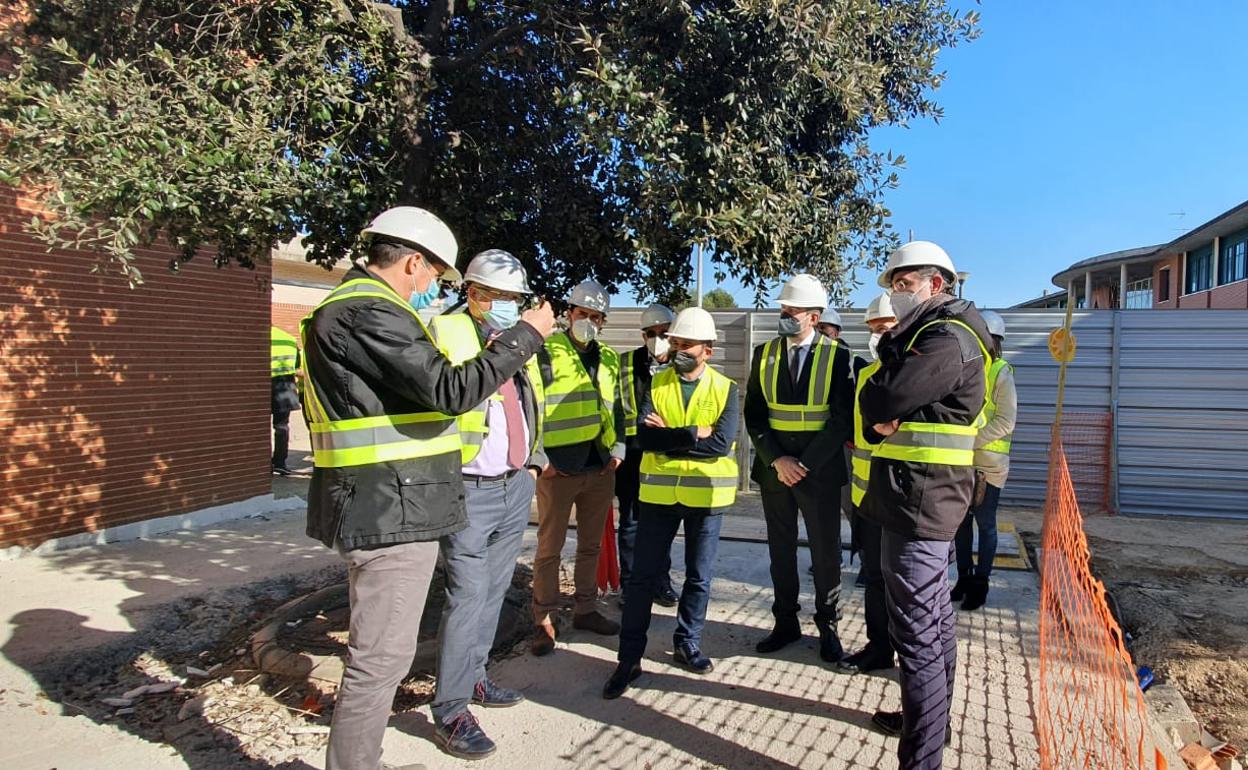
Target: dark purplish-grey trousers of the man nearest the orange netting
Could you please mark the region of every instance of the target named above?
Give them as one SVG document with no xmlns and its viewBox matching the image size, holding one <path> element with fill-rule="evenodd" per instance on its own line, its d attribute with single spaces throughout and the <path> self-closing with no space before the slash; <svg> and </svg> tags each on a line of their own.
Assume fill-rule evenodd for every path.
<svg viewBox="0 0 1248 770">
<path fill-rule="evenodd" d="M 901 661 L 901 770 L 940 770 L 953 701 L 957 624 L 948 599 L 952 543 L 884 529 L 880 569 L 889 633 Z"/>
</svg>

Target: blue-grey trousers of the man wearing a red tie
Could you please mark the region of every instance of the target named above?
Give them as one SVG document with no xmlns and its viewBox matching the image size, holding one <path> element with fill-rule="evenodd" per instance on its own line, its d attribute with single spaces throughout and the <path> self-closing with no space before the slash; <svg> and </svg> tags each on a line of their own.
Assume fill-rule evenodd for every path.
<svg viewBox="0 0 1248 770">
<path fill-rule="evenodd" d="M 468 708 L 473 688 L 485 678 L 535 489 L 528 470 L 505 480 L 464 478 L 468 527 L 442 538 L 447 604 L 438 631 L 438 684 L 429 706 L 439 725 Z"/>
</svg>

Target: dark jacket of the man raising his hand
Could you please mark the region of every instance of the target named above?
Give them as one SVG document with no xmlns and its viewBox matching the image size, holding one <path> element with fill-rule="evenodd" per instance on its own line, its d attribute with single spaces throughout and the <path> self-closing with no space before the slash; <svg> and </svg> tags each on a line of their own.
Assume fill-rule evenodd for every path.
<svg viewBox="0 0 1248 770">
<path fill-rule="evenodd" d="M 352 268 L 343 282 L 374 277 Z M 331 419 L 442 412 L 462 414 L 485 401 L 542 347 L 520 322 L 477 358 L 456 367 L 407 309 L 376 297 L 317 309 L 303 354 Z M 311 387 L 306 386 L 306 387 Z M 463 529 L 459 451 L 418 459 L 316 468 L 308 490 L 310 537 L 328 547 L 377 548 L 434 540 Z"/>
</svg>

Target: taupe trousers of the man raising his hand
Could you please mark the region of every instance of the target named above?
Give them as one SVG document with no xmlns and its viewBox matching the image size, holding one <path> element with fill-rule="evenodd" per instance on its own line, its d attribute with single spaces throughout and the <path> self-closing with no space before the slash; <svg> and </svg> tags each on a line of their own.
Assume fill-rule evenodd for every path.
<svg viewBox="0 0 1248 770">
<path fill-rule="evenodd" d="M 412 668 L 438 544 L 348 550 L 351 635 L 326 770 L 379 770 L 394 691 Z"/>
</svg>

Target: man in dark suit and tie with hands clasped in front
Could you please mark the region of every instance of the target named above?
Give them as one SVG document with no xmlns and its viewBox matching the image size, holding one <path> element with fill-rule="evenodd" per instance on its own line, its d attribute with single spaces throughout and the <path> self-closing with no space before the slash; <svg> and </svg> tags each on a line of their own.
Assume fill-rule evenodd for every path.
<svg viewBox="0 0 1248 770">
<path fill-rule="evenodd" d="M 780 292 L 779 334 L 754 349 L 745 391 L 745 427 L 754 442 L 751 478 L 768 525 L 775 628 L 755 649 L 769 654 L 801 639 L 797 613 L 797 514 L 806 523 L 815 573 L 819 655 L 841 658 L 836 623 L 841 594 L 840 489 L 847 480 L 854 379 L 847 348 L 815 331 L 827 292 L 810 275 Z"/>
</svg>

